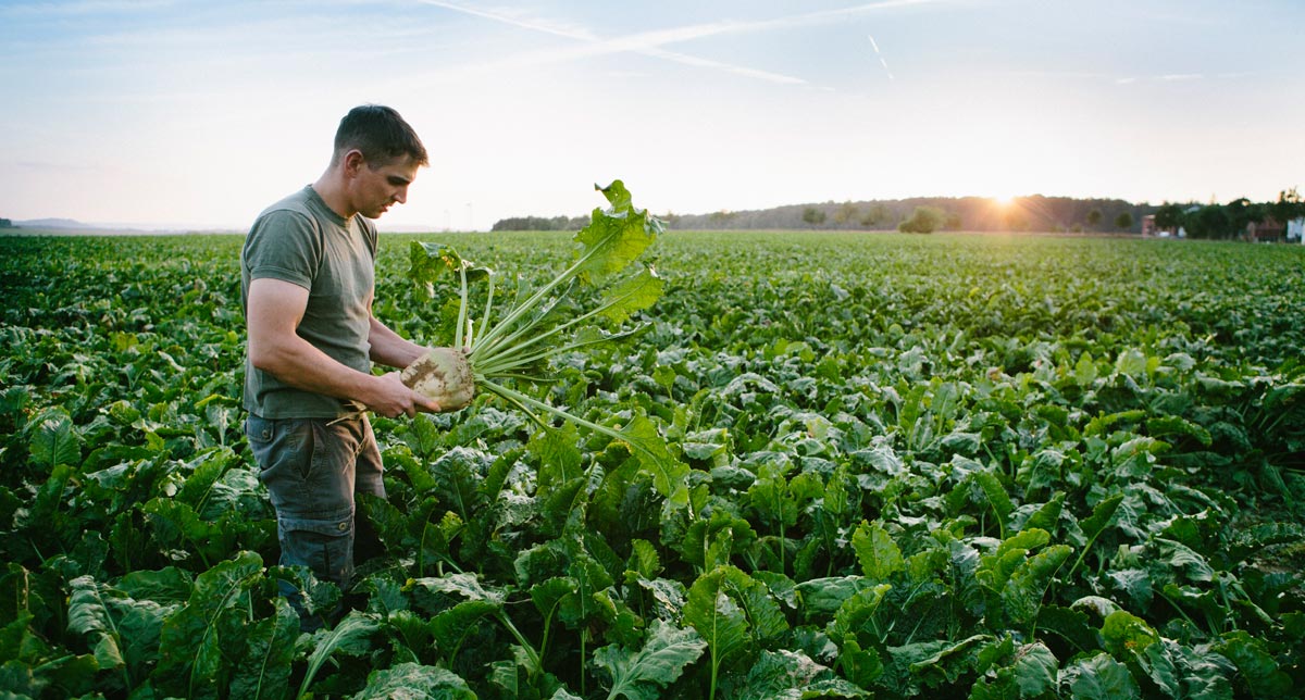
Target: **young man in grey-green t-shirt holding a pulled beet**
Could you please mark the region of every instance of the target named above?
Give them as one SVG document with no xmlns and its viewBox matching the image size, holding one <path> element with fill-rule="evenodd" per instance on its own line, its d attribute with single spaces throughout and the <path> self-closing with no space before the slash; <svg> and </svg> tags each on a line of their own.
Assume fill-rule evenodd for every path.
<svg viewBox="0 0 1305 700">
<path fill-rule="evenodd" d="M 281 563 L 305 564 L 342 589 L 354 574 L 355 540 L 375 540 L 355 518 L 354 497 L 385 497 L 365 411 L 440 411 L 398 372 L 371 372 L 373 361 L 403 368 L 428 352 L 372 315 L 377 233 L 369 220 L 403 203 L 427 164 L 398 112 L 356 107 L 339 123 L 326 172 L 260 214 L 240 254 L 245 434 L 277 510 Z M 299 607 L 298 593 L 286 593 Z"/>
</svg>

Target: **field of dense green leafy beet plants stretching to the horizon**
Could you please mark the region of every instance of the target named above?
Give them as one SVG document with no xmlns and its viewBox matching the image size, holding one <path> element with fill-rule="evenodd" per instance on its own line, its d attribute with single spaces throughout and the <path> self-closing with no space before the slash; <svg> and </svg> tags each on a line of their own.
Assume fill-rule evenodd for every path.
<svg viewBox="0 0 1305 700">
<path fill-rule="evenodd" d="M 536 284 L 565 235 L 412 240 Z M 239 236 L 0 239 L 0 697 L 1287 697 L 1305 688 L 1305 248 L 664 233 L 649 327 L 373 418 L 384 553 L 277 566 Z M 480 293 L 480 292 L 476 292 Z M 450 304 L 441 304 L 442 300 Z M 278 584 L 315 610 L 300 634 Z"/>
</svg>

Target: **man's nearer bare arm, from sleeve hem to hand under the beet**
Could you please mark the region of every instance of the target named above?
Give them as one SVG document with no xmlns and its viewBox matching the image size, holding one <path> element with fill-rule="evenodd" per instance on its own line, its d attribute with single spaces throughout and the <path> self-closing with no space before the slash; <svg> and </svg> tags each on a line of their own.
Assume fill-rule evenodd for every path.
<svg viewBox="0 0 1305 700">
<path fill-rule="evenodd" d="M 376 377 L 358 372 L 300 338 L 295 328 L 307 308 L 308 289 L 298 284 L 277 279 L 249 283 L 247 323 L 253 366 L 296 388 L 361 401 L 382 416 L 440 409 L 438 404 L 405 386 L 399 373 Z"/>
</svg>

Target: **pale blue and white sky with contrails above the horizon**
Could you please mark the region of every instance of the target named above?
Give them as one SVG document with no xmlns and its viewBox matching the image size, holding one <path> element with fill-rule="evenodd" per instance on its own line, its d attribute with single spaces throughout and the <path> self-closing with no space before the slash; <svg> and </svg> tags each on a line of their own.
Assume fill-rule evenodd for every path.
<svg viewBox="0 0 1305 700">
<path fill-rule="evenodd" d="M 1305 185 L 1301 0 L 0 0 L 0 216 L 248 229 L 388 104 L 381 231 Z"/>
</svg>

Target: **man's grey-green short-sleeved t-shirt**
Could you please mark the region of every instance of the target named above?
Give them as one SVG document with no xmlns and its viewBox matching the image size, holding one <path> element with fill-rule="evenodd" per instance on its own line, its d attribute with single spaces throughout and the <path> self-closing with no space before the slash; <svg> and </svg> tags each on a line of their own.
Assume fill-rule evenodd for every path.
<svg viewBox="0 0 1305 700">
<path fill-rule="evenodd" d="M 270 278 L 308 289 L 296 332 L 342 365 L 371 372 L 371 302 L 376 280 L 376 224 L 341 218 L 312 185 L 271 205 L 254 222 L 240 252 L 240 301 L 248 313 L 249 283 Z M 286 385 L 257 369 L 245 353 L 244 407 L 264 418 L 335 418 L 363 408 Z"/>
</svg>

